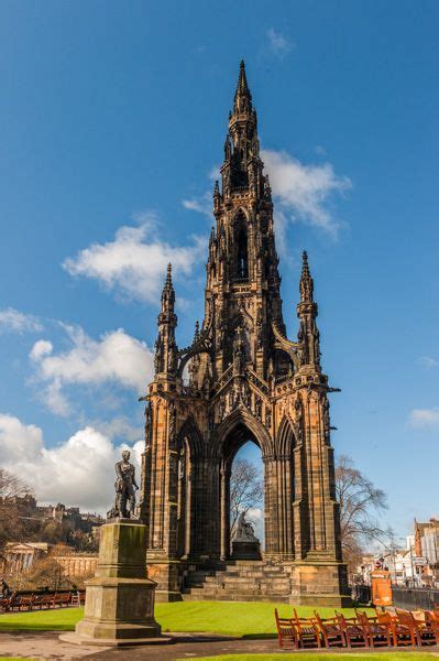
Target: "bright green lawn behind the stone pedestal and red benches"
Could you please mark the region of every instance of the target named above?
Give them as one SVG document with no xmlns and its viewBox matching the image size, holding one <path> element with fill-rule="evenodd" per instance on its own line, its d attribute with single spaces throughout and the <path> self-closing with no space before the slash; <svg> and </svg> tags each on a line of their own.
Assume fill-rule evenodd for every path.
<svg viewBox="0 0 439 661">
<path fill-rule="evenodd" d="M 262 604 L 240 602 L 176 602 L 156 604 L 155 617 L 163 631 L 198 631 L 265 638 L 275 635 L 274 608 L 288 616 L 292 607 L 287 604 Z M 301 617 L 312 615 L 311 607 L 299 606 Z M 332 608 L 319 608 L 323 617 L 332 616 Z M 340 609 L 348 616 L 350 608 Z M 58 608 L 0 615 L 0 630 L 56 630 L 70 631 L 83 617 L 81 608 Z"/>
</svg>

